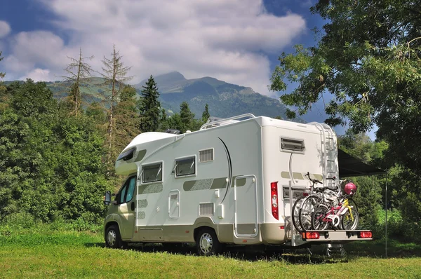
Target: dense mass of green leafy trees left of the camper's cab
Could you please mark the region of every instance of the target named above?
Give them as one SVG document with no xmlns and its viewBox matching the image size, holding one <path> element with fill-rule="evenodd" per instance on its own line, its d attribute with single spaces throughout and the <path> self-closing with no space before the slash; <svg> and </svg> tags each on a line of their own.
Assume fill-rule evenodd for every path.
<svg viewBox="0 0 421 279">
<path fill-rule="evenodd" d="M 31 80 L 8 86 L 8 103 L 0 110 L 0 219 L 100 221 L 107 181 L 91 119 L 67 116 L 46 84 Z"/>
</svg>

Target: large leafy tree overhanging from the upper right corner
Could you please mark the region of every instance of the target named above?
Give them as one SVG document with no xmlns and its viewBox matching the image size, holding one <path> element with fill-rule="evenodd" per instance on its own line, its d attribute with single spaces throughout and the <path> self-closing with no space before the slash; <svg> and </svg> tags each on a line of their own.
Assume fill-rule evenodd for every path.
<svg viewBox="0 0 421 279">
<path fill-rule="evenodd" d="M 400 163 L 421 176 L 420 1 L 320 0 L 311 8 L 326 20 L 316 46 L 282 53 L 272 90 L 298 87 L 281 96 L 305 114 L 327 102 L 326 123 L 353 132 L 377 125 L 377 138 L 389 144 L 389 166 Z M 326 98 L 326 99 L 325 99 Z"/>
</svg>

